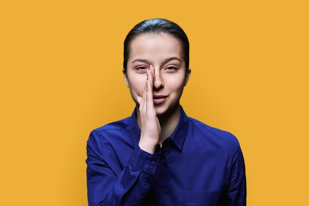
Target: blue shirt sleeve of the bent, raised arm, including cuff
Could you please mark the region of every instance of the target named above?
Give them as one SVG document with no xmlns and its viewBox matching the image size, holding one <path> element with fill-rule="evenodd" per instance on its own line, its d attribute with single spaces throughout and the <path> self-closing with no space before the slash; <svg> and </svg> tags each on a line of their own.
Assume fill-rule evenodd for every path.
<svg viewBox="0 0 309 206">
<path fill-rule="evenodd" d="M 150 189 L 159 154 L 150 154 L 137 144 L 127 165 L 116 174 L 104 155 L 111 153 L 98 149 L 98 144 L 98 136 L 92 131 L 86 159 L 89 206 L 140 205 Z"/>
</svg>

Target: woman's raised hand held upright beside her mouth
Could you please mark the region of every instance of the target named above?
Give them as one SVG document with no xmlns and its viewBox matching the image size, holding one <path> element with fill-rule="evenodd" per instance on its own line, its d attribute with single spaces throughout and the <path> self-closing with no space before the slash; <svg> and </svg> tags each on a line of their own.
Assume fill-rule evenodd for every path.
<svg viewBox="0 0 309 206">
<path fill-rule="evenodd" d="M 154 67 L 150 65 L 147 70 L 147 80 L 144 88 L 143 97 L 137 96 L 139 103 L 139 113 L 141 122 L 141 138 L 139 146 L 142 150 L 154 154 L 155 148 L 159 143 L 161 127 L 156 117 L 153 101 L 153 82 Z"/>
</svg>

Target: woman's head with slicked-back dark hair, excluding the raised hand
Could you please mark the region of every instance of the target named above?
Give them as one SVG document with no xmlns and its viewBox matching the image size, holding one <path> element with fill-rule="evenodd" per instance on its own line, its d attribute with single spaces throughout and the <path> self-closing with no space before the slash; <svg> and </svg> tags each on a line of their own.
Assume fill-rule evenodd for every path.
<svg viewBox="0 0 309 206">
<path fill-rule="evenodd" d="M 168 115 L 178 108 L 191 74 L 189 41 L 177 24 L 165 19 L 146 20 L 135 26 L 124 41 L 124 80 L 137 105 L 136 96 L 143 96 L 146 71 L 151 65 L 153 98 L 164 99 L 154 104 L 156 114 Z"/>
</svg>

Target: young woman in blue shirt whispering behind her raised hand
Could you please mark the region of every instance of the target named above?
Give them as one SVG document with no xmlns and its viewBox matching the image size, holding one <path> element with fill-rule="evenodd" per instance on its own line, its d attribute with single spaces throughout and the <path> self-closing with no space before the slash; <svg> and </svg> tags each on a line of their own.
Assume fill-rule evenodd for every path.
<svg viewBox="0 0 309 206">
<path fill-rule="evenodd" d="M 189 40 L 166 19 L 137 24 L 123 75 L 136 108 L 87 141 L 89 206 L 245 206 L 245 165 L 231 133 L 187 117 Z"/>
</svg>

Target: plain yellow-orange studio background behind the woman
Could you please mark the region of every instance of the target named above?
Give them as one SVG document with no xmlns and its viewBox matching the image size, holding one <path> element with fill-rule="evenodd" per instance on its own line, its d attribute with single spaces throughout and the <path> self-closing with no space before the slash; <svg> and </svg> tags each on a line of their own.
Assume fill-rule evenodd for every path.
<svg viewBox="0 0 309 206">
<path fill-rule="evenodd" d="M 232 132 L 248 206 L 308 204 L 306 0 L 0 2 L 0 205 L 86 206 L 90 131 L 131 115 L 123 40 L 144 19 L 191 43 L 188 116 Z"/>
</svg>

